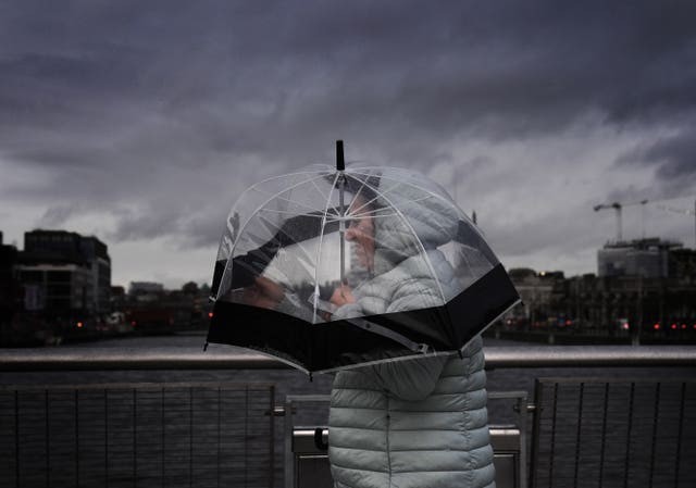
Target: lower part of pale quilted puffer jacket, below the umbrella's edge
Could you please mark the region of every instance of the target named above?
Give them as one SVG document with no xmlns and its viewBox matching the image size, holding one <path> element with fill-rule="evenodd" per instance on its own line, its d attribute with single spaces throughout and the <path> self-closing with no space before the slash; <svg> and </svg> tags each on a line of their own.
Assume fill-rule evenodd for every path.
<svg viewBox="0 0 696 488">
<path fill-rule="evenodd" d="M 336 487 L 495 487 L 481 338 L 463 355 L 336 375 L 328 420 Z"/>
</svg>

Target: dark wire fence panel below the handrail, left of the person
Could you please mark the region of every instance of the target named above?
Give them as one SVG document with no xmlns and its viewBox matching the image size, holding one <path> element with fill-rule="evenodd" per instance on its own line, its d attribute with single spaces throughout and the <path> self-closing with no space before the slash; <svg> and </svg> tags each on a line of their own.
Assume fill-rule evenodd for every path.
<svg viewBox="0 0 696 488">
<path fill-rule="evenodd" d="M 3 386 L 0 488 L 272 487 L 274 386 Z"/>
</svg>

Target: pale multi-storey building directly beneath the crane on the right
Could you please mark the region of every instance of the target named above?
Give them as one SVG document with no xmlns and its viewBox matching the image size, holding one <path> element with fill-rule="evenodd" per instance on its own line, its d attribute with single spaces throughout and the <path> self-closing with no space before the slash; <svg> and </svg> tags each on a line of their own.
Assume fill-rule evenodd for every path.
<svg viewBox="0 0 696 488">
<path fill-rule="evenodd" d="M 681 242 L 659 237 L 608 242 L 597 251 L 597 274 L 599 277 L 666 278 L 669 276 L 669 255 L 681 248 Z"/>
</svg>

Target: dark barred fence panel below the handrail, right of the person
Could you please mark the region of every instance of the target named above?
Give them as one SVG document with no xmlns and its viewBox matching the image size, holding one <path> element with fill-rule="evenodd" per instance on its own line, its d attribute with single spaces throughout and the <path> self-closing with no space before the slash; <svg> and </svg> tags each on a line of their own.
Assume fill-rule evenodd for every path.
<svg viewBox="0 0 696 488">
<path fill-rule="evenodd" d="M 696 486 L 696 379 L 543 378 L 532 486 Z"/>
</svg>

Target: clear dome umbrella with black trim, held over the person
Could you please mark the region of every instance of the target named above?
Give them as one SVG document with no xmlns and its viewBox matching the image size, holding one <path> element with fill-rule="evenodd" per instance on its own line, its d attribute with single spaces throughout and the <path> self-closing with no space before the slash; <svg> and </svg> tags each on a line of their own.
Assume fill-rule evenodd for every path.
<svg viewBox="0 0 696 488">
<path fill-rule="evenodd" d="M 308 372 L 456 353 L 520 298 L 475 225 L 412 171 L 313 165 L 247 189 L 208 341 Z"/>
</svg>

